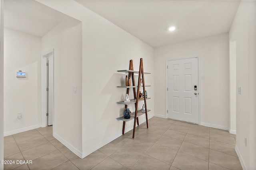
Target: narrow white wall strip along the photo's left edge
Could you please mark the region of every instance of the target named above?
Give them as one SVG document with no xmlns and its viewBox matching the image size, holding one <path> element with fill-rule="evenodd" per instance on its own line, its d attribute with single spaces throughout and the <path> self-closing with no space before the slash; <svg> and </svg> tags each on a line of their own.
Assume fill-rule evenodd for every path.
<svg viewBox="0 0 256 170">
<path fill-rule="evenodd" d="M 0 1 L 0 160 L 4 160 L 4 0 Z"/>
</svg>

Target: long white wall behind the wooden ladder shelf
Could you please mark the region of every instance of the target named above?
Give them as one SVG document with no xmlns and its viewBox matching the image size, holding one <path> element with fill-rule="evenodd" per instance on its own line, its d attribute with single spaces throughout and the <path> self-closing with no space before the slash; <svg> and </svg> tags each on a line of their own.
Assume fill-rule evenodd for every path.
<svg viewBox="0 0 256 170">
<path fill-rule="evenodd" d="M 82 21 L 82 157 L 102 147 L 122 134 L 125 89 L 118 89 L 124 74 L 116 70 L 128 69 L 133 59 L 134 69 L 144 59 L 144 71 L 153 72 L 153 48 L 98 16 L 74 0 L 63 2 L 36 0 L 68 16 Z M 74 10 L 70 10 L 70 6 Z M 154 115 L 154 74 L 146 75 L 149 116 Z M 142 122 L 141 122 L 142 123 Z M 129 127 L 130 124 L 126 126 Z"/>
</svg>

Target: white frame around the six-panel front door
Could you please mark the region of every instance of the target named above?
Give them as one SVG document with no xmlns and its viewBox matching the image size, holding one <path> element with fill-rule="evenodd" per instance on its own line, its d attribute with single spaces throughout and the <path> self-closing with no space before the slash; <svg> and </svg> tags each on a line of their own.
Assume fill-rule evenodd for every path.
<svg viewBox="0 0 256 170">
<path fill-rule="evenodd" d="M 167 88 L 168 88 L 168 69 L 167 69 L 167 66 L 168 66 L 168 61 L 174 61 L 174 60 L 182 60 L 182 59 L 191 59 L 191 58 L 197 58 L 198 59 L 198 125 L 201 125 L 201 56 L 200 55 L 197 55 L 197 56 L 191 56 L 191 57 L 181 57 L 181 58 L 174 58 L 174 59 L 166 59 L 166 66 L 165 66 L 165 77 L 166 77 L 166 80 L 165 80 L 165 89 L 166 89 L 166 93 L 165 93 L 165 96 L 166 96 L 166 118 L 168 118 L 168 113 L 167 113 L 167 110 L 168 110 L 168 91 L 167 91 Z"/>
</svg>

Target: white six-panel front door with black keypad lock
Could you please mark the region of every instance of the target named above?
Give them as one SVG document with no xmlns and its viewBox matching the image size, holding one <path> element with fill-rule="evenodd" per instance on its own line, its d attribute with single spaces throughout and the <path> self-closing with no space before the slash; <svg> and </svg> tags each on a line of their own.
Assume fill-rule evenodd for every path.
<svg viewBox="0 0 256 170">
<path fill-rule="evenodd" d="M 168 61 L 168 118 L 198 123 L 198 58 Z"/>
</svg>

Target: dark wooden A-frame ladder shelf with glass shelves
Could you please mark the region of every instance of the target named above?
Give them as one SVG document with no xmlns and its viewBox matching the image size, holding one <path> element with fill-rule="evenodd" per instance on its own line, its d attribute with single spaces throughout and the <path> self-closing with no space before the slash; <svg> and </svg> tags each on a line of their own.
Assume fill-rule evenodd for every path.
<svg viewBox="0 0 256 170">
<path fill-rule="evenodd" d="M 133 133 L 132 133 L 132 138 L 134 139 L 135 137 L 135 130 L 136 130 L 136 122 L 137 122 L 137 125 L 139 126 L 139 119 L 138 119 L 138 116 L 144 114 L 144 112 L 138 110 L 138 102 L 139 101 L 142 101 L 144 100 L 144 104 L 145 104 L 145 115 L 146 115 L 146 124 L 147 124 L 147 128 L 148 128 L 148 110 L 147 109 L 147 99 L 150 99 L 150 98 L 146 98 L 146 90 L 145 90 L 145 81 L 144 81 L 144 70 L 143 70 L 143 59 L 141 58 L 140 59 L 140 68 L 139 68 L 139 71 L 134 71 L 133 70 L 133 61 L 130 60 L 130 66 L 129 66 L 129 70 L 118 70 L 118 72 L 128 72 L 128 79 L 132 79 L 132 86 L 118 86 L 118 87 L 126 87 L 127 90 L 126 90 L 126 94 L 129 95 L 129 91 L 130 91 L 130 88 L 133 88 L 133 94 L 134 94 L 134 99 L 131 100 L 132 103 L 135 104 L 135 112 L 132 113 L 132 116 L 130 119 L 124 119 L 124 117 L 118 117 L 117 119 L 118 120 L 122 120 L 123 121 L 123 129 L 122 129 L 122 134 L 124 135 L 124 130 L 125 130 L 125 124 L 126 124 L 126 121 L 130 121 L 132 120 L 132 117 L 134 115 L 134 126 L 133 126 Z M 138 86 L 136 86 L 135 84 L 135 80 L 134 80 L 134 73 L 135 74 L 138 74 Z M 146 73 L 145 74 L 150 74 L 150 73 Z M 140 96 L 140 79 L 142 78 L 142 86 L 143 86 L 143 92 L 144 92 L 144 98 L 141 99 L 139 98 Z M 137 92 L 136 92 L 136 87 L 137 87 Z M 118 102 L 119 104 L 125 104 L 125 108 L 127 108 L 128 104 L 129 103 L 124 103 L 124 102 Z"/>
</svg>

